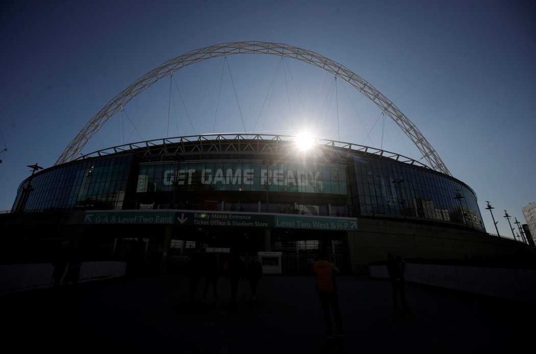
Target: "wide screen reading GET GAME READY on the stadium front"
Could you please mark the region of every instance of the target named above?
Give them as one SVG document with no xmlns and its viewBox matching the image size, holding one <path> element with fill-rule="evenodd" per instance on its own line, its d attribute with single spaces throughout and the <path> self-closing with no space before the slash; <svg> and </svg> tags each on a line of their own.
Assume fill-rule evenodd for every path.
<svg viewBox="0 0 536 354">
<path fill-rule="evenodd" d="M 174 190 L 346 194 L 346 167 L 239 161 L 140 165 L 138 193 Z"/>
</svg>

